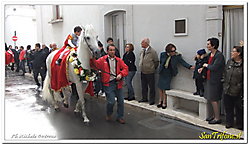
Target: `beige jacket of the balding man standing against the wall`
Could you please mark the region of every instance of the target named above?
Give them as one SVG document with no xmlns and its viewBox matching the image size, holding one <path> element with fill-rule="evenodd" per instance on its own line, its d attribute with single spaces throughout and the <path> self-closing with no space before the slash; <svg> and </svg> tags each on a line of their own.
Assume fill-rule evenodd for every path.
<svg viewBox="0 0 249 145">
<path fill-rule="evenodd" d="M 148 50 L 145 52 L 142 50 L 140 52 L 140 62 L 139 67 L 142 73 L 144 74 L 152 74 L 155 73 L 158 65 L 159 60 L 156 51 L 149 46 Z"/>
</svg>

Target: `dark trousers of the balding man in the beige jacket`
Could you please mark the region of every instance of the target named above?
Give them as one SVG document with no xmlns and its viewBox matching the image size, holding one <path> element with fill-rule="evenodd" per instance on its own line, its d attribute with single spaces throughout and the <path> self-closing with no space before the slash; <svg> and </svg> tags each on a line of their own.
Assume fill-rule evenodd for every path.
<svg viewBox="0 0 249 145">
<path fill-rule="evenodd" d="M 149 102 L 155 102 L 155 73 L 144 74 L 141 72 L 141 84 L 142 84 L 142 99 L 148 100 L 148 86 L 150 87 Z"/>
</svg>

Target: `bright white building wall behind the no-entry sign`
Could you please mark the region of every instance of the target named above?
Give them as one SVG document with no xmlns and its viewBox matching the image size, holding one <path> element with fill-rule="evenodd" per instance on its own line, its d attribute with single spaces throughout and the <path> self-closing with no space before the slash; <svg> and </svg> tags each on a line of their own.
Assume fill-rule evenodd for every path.
<svg viewBox="0 0 249 145">
<path fill-rule="evenodd" d="M 16 9 L 14 11 L 13 9 Z M 12 36 L 14 36 L 14 31 L 18 40 L 16 41 L 17 46 L 32 45 L 37 41 L 36 34 L 36 15 L 33 6 L 28 5 L 6 5 L 5 6 L 5 27 L 4 36 L 5 42 L 8 45 L 14 46 L 12 41 Z"/>
</svg>

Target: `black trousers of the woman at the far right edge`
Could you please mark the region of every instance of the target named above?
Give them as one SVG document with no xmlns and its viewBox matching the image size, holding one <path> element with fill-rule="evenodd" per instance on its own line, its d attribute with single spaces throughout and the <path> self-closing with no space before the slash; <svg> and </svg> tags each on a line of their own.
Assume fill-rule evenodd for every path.
<svg viewBox="0 0 249 145">
<path fill-rule="evenodd" d="M 243 107 L 240 96 L 230 96 L 224 94 L 224 105 L 226 111 L 226 124 L 233 125 L 234 123 L 234 109 L 236 113 L 236 124 L 238 127 L 243 127 Z"/>
</svg>

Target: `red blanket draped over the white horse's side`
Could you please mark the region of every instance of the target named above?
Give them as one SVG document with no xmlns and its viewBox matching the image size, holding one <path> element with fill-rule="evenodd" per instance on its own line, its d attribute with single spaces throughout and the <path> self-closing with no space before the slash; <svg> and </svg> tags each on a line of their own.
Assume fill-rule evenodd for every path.
<svg viewBox="0 0 249 145">
<path fill-rule="evenodd" d="M 68 81 L 68 66 L 67 66 L 67 58 L 70 54 L 70 50 L 68 49 L 63 57 L 60 65 L 56 65 L 55 62 L 59 58 L 61 52 L 65 48 L 61 48 L 53 57 L 51 63 L 51 89 L 54 91 L 61 91 L 61 88 L 67 87 L 70 85 Z"/>
</svg>

